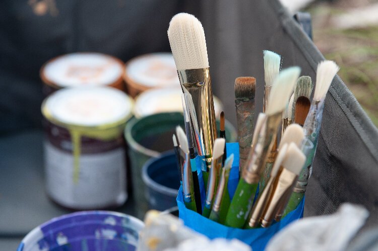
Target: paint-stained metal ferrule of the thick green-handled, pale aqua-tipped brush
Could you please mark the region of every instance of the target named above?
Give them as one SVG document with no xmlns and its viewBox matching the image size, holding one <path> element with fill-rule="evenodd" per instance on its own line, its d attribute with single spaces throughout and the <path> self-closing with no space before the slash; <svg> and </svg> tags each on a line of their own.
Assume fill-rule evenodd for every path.
<svg viewBox="0 0 378 251">
<path fill-rule="evenodd" d="M 246 183 L 256 184 L 259 182 L 261 173 L 273 148 L 281 117 L 282 112 L 267 116 L 265 125 L 260 130 L 258 142 L 251 149 L 245 168 L 243 168 L 241 173 Z"/>
</svg>

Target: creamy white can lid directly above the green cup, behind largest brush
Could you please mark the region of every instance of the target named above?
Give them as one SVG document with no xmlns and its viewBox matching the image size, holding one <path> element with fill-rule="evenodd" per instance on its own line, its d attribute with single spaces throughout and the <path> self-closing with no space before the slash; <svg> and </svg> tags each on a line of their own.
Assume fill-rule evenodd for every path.
<svg viewBox="0 0 378 251">
<path fill-rule="evenodd" d="M 135 99 L 134 116 L 141 118 L 156 113 L 182 112 L 181 94 L 179 85 L 147 90 Z M 215 116 L 218 118 L 223 110 L 223 105 L 214 96 L 213 100 Z"/>
</svg>

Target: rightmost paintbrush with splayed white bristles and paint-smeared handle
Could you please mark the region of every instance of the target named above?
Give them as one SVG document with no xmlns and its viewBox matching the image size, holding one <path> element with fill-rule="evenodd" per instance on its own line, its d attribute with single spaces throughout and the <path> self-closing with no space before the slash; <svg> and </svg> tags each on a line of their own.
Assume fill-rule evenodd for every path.
<svg viewBox="0 0 378 251">
<path fill-rule="evenodd" d="M 304 137 L 313 144 L 313 147 L 311 150 L 308 150 L 306 154 L 306 162 L 304 163 L 303 169 L 299 175 L 298 182 L 294 187 L 294 193 L 291 194 L 289 203 L 285 208 L 284 215 L 291 212 L 299 205 L 304 196 L 304 192 L 306 191 L 308 178 L 312 171 L 312 161 L 318 145 L 324 100 L 326 99 L 328 89 L 330 88 L 331 82 L 338 70 L 339 66 L 330 60 L 325 60 L 318 64 L 315 91 L 307 118 L 303 125 Z M 305 147 L 305 145 L 303 145 L 303 147 Z"/>
</svg>

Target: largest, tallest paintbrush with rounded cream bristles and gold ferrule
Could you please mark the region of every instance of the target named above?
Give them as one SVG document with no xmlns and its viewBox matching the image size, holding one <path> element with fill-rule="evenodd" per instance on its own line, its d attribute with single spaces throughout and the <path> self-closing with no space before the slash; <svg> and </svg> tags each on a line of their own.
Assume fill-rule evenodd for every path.
<svg viewBox="0 0 378 251">
<path fill-rule="evenodd" d="M 193 15 L 179 13 L 169 23 L 168 39 L 182 91 L 191 94 L 196 110 L 207 165 L 202 170 L 206 185 L 217 129 L 204 28 Z"/>
</svg>

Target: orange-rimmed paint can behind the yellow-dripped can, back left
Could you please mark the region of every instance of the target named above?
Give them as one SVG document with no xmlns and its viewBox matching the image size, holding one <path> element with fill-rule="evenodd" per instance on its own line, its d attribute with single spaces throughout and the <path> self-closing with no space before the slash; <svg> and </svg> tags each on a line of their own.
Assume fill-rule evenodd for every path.
<svg viewBox="0 0 378 251">
<path fill-rule="evenodd" d="M 40 70 L 45 97 L 66 87 L 109 86 L 124 90 L 124 63 L 102 53 L 71 53 L 47 61 Z"/>
</svg>

